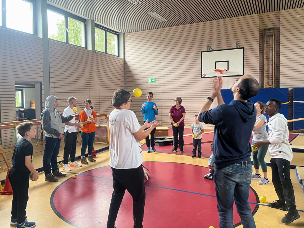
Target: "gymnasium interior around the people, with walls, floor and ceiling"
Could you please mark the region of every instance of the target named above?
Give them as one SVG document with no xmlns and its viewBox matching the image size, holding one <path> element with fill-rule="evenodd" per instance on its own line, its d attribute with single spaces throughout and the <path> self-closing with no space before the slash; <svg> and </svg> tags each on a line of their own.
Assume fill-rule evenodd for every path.
<svg viewBox="0 0 304 228">
<path fill-rule="evenodd" d="M 214 182 L 203 178 L 209 173 L 214 126 L 202 123 L 202 159 L 191 159 L 190 129 L 218 68 L 226 70 L 221 90 L 226 104 L 233 100 L 230 88 L 244 74 L 260 85 L 252 102 L 281 101 L 301 216 L 288 227 L 304 227 L 304 0 L 1 0 L 0 5 L 1 228 L 13 227 L 7 174 L 21 139 L 16 126 L 22 122 L 33 122 L 37 131 L 31 143 L 39 179 L 29 183 L 28 220 L 36 227 L 106 227 L 113 192 L 109 115 L 117 89 L 131 93 L 130 110 L 141 125 L 143 102 L 147 92 L 153 92 L 156 120 L 161 122 L 155 132 L 157 153 L 147 153 L 145 140 L 140 142 L 150 175 L 145 180 L 143 227 L 218 228 Z M 139 97 L 134 89 L 141 90 Z M 57 162 L 67 176 L 57 182 L 45 181 L 42 168 L 40 116 L 50 95 L 58 98 L 61 114 L 68 97 L 77 98 L 79 112 L 90 99 L 98 117 L 96 162 L 64 171 L 61 140 Z M 169 111 L 176 97 L 182 98 L 186 112 L 183 154 L 171 152 Z M 210 108 L 215 107 L 213 102 Z M 79 163 L 80 158 L 79 130 Z M 256 227 L 286 227 L 281 223 L 285 211 L 268 206 L 278 199 L 270 159 L 267 153 L 270 184 L 251 180 L 249 206 Z M 233 226 L 243 227 L 235 205 L 233 212 Z M 132 196 L 126 192 L 116 227 L 132 227 L 132 216 Z"/>
</svg>

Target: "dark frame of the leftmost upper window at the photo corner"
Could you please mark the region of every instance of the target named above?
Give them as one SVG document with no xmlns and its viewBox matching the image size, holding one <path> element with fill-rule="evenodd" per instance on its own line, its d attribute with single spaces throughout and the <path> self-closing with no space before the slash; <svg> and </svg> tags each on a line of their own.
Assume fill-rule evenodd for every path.
<svg viewBox="0 0 304 228">
<path fill-rule="evenodd" d="M 16 31 L 19 33 L 25 33 L 25 34 L 29 34 L 32 36 L 37 36 L 37 21 L 36 21 L 36 0 L 22 0 L 24 2 L 30 2 L 32 3 L 32 11 L 33 11 L 33 33 L 26 33 L 26 32 L 22 32 L 16 29 L 11 29 L 6 27 L 6 0 L 0 0 L 1 1 L 1 17 L 2 17 L 2 25 L 0 26 L 0 28 L 5 28 L 5 29 L 9 29 L 12 31 Z"/>
</svg>

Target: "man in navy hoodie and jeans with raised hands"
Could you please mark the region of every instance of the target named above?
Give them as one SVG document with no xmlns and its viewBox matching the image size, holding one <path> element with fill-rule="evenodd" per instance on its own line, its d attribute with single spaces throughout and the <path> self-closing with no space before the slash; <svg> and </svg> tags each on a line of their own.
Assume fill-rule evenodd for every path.
<svg viewBox="0 0 304 228">
<path fill-rule="evenodd" d="M 221 95 L 223 79 L 213 80 L 210 97 L 199 112 L 199 122 L 214 125 L 213 162 L 219 227 L 233 228 L 233 200 L 244 228 L 255 228 L 248 197 L 251 183 L 251 132 L 257 110 L 248 100 L 260 86 L 250 75 L 241 76 L 231 88 L 233 101 L 225 104 Z M 217 107 L 210 109 L 216 98 Z"/>
</svg>

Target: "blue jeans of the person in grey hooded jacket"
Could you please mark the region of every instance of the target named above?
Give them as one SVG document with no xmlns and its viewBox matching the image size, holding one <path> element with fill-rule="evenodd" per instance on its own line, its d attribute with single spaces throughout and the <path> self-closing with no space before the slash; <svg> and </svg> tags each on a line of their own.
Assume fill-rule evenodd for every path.
<svg viewBox="0 0 304 228">
<path fill-rule="evenodd" d="M 59 154 L 60 142 L 59 138 L 44 137 L 44 153 L 42 158 L 43 172 L 46 176 L 51 173 L 50 163 L 53 173 L 58 170 L 57 156 Z"/>
</svg>

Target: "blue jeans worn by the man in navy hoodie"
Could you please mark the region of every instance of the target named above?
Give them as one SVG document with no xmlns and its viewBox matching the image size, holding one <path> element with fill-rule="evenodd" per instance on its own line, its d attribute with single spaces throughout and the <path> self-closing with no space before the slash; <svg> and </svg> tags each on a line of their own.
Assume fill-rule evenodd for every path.
<svg viewBox="0 0 304 228">
<path fill-rule="evenodd" d="M 233 164 L 215 170 L 213 181 L 220 228 L 233 228 L 233 199 L 243 227 L 256 227 L 248 201 L 251 175 L 251 164 Z"/>
</svg>

